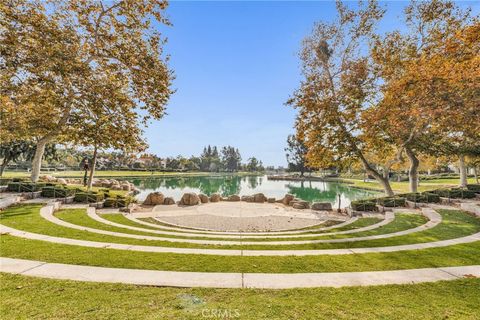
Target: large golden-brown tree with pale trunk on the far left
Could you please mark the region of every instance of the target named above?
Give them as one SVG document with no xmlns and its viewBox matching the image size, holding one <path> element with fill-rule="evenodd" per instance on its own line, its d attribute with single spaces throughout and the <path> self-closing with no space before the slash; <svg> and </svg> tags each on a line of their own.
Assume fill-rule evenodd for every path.
<svg viewBox="0 0 480 320">
<path fill-rule="evenodd" d="M 1 94 L 17 108 L 41 106 L 24 113 L 38 137 L 33 181 L 45 145 L 60 135 L 68 139 L 72 114 L 85 111 L 84 95 L 99 78 L 123 84 L 116 88 L 144 125 L 163 116 L 172 73 L 152 21 L 169 24 L 166 6 L 159 0 L 0 4 Z"/>
</svg>

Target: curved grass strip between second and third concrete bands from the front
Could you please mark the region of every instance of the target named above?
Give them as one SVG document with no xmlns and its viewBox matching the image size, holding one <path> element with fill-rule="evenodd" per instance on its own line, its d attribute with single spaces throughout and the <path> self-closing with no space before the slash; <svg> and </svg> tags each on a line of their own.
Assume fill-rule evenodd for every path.
<svg viewBox="0 0 480 320">
<path fill-rule="evenodd" d="M 250 249 L 250 250 L 297 250 L 297 249 L 337 249 L 337 248 L 361 248 L 361 247 L 381 247 L 391 245 L 402 245 L 412 243 L 422 243 L 437 240 L 445 240 L 451 238 L 457 238 L 466 236 L 480 230 L 480 219 L 474 218 L 462 211 L 457 210 L 443 210 L 441 211 L 443 221 L 436 227 L 415 232 L 405 236 L 396 236 L 386 239 L 378 240 L 364 240 L 355 242 L 343 242 L 343 243 L 314 243 L 314 244 L 300 244 L 300 245 L 201 245 L 193 243 L 179 243 L 170 241 L 159 240 L 141 240 L 131 239 L 120 236 L 109 236 L 87 232 L 83 230 L 71 229 L 63 226 L 56 225 L 47 220 L 44 220 L 39 215 L 39 205 L 20 205 L 11 207 L 5 210 L 1 215 L 1 223 L 11 226 L 13 228 L 46 234 L 51 236 L 100 241 L 100 242 L 112 242 L 122 244 L 134 244 L 134 245 L 148 245 L 148 246 L 165 246 L 165 247 L 182 247 L 182 248 L 222 248 L 222 249 Z M 69 210 L 72 216 L 78 219 L 78 216 L 84 214 L 81 210 Z M 76 215 L 78 213 L 78 215 Z M 92 223 L 96 223 L 102 226 L 99 222 L 94 220 Z M 87 222 L 88 224 L 89 222 Z M 93 226 L 93 224 L 92 224 Z M 114 228 L 114 227 L 113 227 Z M 387 228 L 387 231 L 393 229 L 392 224 L 385 225 L 382 228 Z M 123 229 L 123 228 L 122 228 Z M 133 231 L 133 230 L 130 230 Z M 372 232 L 378 232 L 377 230 L 366 231 L 367 235 L 371 235 Z M 218 240 L 218 239 L 217 239 Z"/>
</svg>

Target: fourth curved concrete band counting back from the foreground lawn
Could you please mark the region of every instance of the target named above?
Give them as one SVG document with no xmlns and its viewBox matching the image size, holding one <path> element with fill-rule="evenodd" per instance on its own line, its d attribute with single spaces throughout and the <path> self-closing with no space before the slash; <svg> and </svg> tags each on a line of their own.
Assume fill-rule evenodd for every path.
<svg viewBox="0 0 480 320">
<path fill-rule="evenodd" d="M 101 215 L 98 215 L 97 212 L 95 211 L 94 208 L 88 208 L 87 209 L 87 214 L 90 218 L 93 220 L 96 220 L 98 222 L 101 222 L 103 224 L 115 226 L 115 227 L 120 227 L 120 228 L 125 228 L 129 230 L 135 230 L 135 231 L 141 231 L 141 232 L 149 232 L 149 233 L 155 233 L 155 234 L 163 234 L 163 235 L 175 235 L 175 236 L 182 236 L 182 237 L 208 237 L 208 238 L 222 238 L 222 239 L 239 239 L 242 236 L 245 238 L 251 238 L 251 239 L 269 239 L 269 238 L 305 238 L 305 237 L 315 237 L 315 236 L 328 236 L 328 235 L 336 235 L 336 234 L 350 234 L 350 233 L 357 233 L 357 232 L 362 232 L 362 231 L 368 231 L 368 230 L 373 230 L 376 228 L 379 228 L 383 225 L 386 225 L 395 219 L 395 215 L 391 212 L 387 213 L 385 215 L 385 219 L 380 221 L 379 223 L 362 227 L 362 228 L 356 228 L 356 229 L 351 229 L 351 230 L 345 230 L 345 231 L 337 231 L 337 232 L 329 232 L 329 233 L 320 233 L 320 234 L 313 234 L 313 233 L 304 233 L 304 234 L 295 234 L 295 235 L 218 235 L 218 234 L 199 234 L 199 233 L 189 233 L 187 230 L 184 229 L 184 232 L 170 232 L 170 231 L 162 231 L 162 230 L 152 230 L 152 229 L 146 229 L 146 228 L 139 228 L 139 227 L 133 227 L 129 226 L 126 224 L 121 224 L 121 223 L 115 223 L 110 220 L 102 218 Z M 124 215 L 125 216 L 125 215 Z"/>
</svg>

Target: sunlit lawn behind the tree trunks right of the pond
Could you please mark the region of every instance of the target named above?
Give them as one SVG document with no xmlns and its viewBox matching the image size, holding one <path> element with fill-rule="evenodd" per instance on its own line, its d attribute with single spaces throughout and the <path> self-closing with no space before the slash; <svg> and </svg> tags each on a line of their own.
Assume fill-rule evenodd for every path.
<svg viewBox="0 0 480 320">
<path fill-rule="evenodd" d="M 377 181 L 366 182 L 359 179 L 341 179 L 340 181 L 346 181 L 358 188 L 383 191 L 382 187 Z M 468 183 L 475 183 L 475 179 L 469 178 Z M 459 179 L 422 180 L 419 183 L 418 191 L 423 192 L 423 191 L 429 191 L 429 190 L 435 190 L 435 189 L 441 189 L 441 188 L 458 187 L 458 184 L 459 184 Z M 390 181 L 390 185 L 392 186 L 392 189 L 397 193 L 410 192 L 410 186 L 408 181 L 402 181 L 402 182 Z"/>
</svg>

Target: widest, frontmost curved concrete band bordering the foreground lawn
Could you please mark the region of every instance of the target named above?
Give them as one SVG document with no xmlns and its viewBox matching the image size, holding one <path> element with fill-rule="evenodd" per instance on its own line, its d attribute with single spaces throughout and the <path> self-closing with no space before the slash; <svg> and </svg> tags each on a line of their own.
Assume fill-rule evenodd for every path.
<svg viewBox="0 0 480 320">
<path fill-rule="evenodd" d="M 480 277 L 480 265 L 370 272 L 220 273 L 90 267 L 0 258 L 0 271 L 50 279 L 135 285 L 288 289 L 413 284 Z"/>
</svg>

